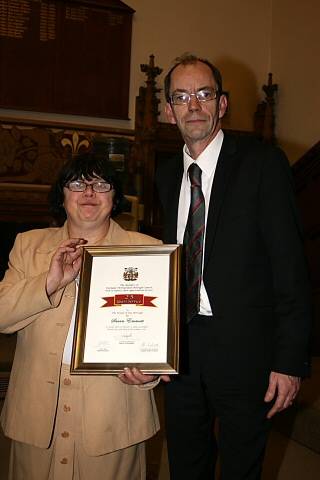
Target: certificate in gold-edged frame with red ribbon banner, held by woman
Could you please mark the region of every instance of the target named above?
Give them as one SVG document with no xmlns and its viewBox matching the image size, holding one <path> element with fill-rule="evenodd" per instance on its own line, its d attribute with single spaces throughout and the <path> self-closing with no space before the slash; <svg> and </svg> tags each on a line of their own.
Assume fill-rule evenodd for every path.
<svg viewBox="0 0 320 480">
<path fill-rule="evenodd" d="M 84 247 L 72 374 L 176 374 L 181 246 Z"/>
</svg>

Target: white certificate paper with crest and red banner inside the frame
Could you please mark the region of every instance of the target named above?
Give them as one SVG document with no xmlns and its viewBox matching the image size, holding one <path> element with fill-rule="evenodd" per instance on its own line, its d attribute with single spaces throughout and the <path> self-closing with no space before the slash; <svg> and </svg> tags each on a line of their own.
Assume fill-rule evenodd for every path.
<svg viewBox="0 0 320 480">
<path fill-rule="evenodd" d="M 169 257 L 148 260 L 93 259 L 84 362 L 165 362 Z"/>
</svg>

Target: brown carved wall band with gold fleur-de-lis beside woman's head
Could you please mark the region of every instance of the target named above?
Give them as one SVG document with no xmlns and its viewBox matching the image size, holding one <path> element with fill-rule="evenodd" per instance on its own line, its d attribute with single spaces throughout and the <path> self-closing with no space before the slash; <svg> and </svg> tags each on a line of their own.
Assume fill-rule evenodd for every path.
<svg viewBox="0 0 320 480">
<path fill-rule="evenodd" d="M 113 129 L 110 133 L 116 136 Z M 90 150 L 95 138 L 109 136 L 101 131 L 0 124 L 0 222 L 49 224 L 47 196 L 63 163 Z"/>
</svg>

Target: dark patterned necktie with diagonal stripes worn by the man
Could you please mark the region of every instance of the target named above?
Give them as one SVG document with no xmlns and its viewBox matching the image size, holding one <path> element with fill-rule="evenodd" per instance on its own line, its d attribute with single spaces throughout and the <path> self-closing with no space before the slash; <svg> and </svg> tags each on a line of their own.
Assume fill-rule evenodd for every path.
<svg viewBox="0 0 320 480">
<path fill-rule="evenodd" d="M 196 163 L 192 163 L 188 173 L 191 183 L 191 200 L 183 244 L 186 263 L 186 314 L 187 322 L 190 322 L 192 317 L 199 313 L 200 308 L 205 203 L 201 190 L 201 168 Z"/>
</svg>

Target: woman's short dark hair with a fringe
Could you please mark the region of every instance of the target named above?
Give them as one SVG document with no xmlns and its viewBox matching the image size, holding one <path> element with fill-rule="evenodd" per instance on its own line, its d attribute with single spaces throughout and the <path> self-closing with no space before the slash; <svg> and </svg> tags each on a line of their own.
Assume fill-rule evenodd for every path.
<svg viewBox="0 0 320 480">
<path fill-rule="evenodd" d="M 63 207 L 64 187 L 72 180 L 92 178 L 103 178 L 110 183 L 114 189 L 113 209 L 111 216 L 115 217 L 122 212 L 124 205 L 124 195 L 121 182 L 116 171 L 108 160 L 102 158 L 93 152 L 75 155 L 67 161 L 58 174 L 58 178 L 52 185 L 49 193 L 50 210 L 52 214 L 60 220 L 66 219 L 66 212 Z"/>
</svg>

